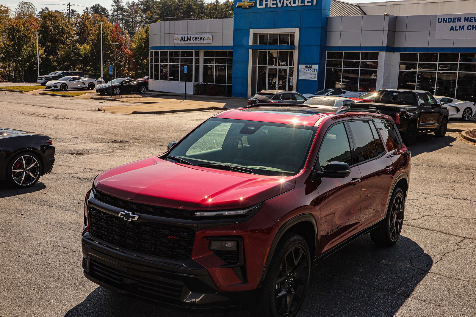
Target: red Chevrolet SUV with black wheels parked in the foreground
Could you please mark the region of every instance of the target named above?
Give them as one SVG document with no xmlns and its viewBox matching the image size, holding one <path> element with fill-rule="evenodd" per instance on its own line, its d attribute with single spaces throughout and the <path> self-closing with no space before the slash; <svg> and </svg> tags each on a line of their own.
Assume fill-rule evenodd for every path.
<svg viewBox="0 0 476 317">
<path fill-rule="evenodd" d="M 232 109 L 102 172 L 85 201 L 85 276 L 171 305 L 296 315 L 322 258 L 367 232 L 383 246 L 400 235 L 410 151 L 373 111 Z"/>
</svg>

